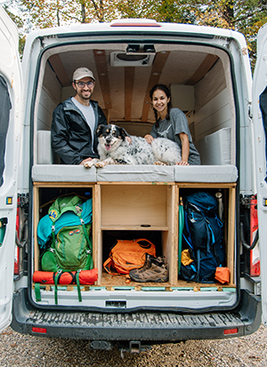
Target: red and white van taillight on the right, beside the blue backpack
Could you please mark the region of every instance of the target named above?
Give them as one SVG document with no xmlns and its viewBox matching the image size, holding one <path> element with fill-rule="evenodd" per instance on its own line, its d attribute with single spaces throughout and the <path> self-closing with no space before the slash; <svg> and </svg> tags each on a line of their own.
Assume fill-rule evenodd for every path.
<svg viewBox="0 0 267 367">
<path fill-rule="evenodd" d="M 258 235 L 258 213 L 256 195 L 250 201 L 250 245 L 255 241 Z M 250 276 L 259 276 L 261 274 L 260 249 L 257 242 L 254 249 L 250 251 Z"/>
</svg>

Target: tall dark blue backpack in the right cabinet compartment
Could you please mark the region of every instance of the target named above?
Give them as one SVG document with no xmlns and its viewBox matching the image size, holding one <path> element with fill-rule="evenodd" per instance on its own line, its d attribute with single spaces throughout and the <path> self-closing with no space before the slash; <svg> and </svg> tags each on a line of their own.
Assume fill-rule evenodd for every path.
<svg viewBox="0 0 267 367">
<path fill-rule="evenodd" d="M 207 192 L 196 192 L 183 197 L 183 248 L 189 249 L 193 260 L 181 264 L 180 277 L 186 281 L 214 283 L 216 267 L 225 261 L 223 222 L 218 216 L 216 198 Z"/>
</svg>

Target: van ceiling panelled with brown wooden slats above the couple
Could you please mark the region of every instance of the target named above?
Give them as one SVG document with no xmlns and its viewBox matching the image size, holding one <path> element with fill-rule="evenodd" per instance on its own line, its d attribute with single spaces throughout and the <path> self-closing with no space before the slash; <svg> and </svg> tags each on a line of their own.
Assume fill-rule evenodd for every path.
<svg viewBox="0 0 267 367">
<path fill-rule="evenodd" d="M 109 45 L 110 46 L 110 45 Z M 118 48 L 118 51 L 121 47 Z M 155 84 L 195 85 L 206 75 L 218 57 L 207 52 L 188 50 L 159 51 L 151 66 L 112 67 L 112 50 L 90 49 L 55 53 L 49 58 L 62 88 L 71 86 L 76 68 L 85 66 L 96 79 L 93 100 L 111 121 L 154 123 L 149 91 Z M 47 82 L 47 81 L 46 81 Z M 68 88 L 69 95 L 72 92 Z"/>
</svg>

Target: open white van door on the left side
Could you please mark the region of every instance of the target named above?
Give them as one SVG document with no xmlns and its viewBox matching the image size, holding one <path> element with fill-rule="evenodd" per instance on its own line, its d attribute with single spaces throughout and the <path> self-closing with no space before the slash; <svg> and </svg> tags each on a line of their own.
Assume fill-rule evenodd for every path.
<svg viewBox="0 0 267 367">
<path fill-rule="evenodd" d="M 22 79 L 18 29 L 0 6 L 0 331 L 11 323 Z"/>
</svg>

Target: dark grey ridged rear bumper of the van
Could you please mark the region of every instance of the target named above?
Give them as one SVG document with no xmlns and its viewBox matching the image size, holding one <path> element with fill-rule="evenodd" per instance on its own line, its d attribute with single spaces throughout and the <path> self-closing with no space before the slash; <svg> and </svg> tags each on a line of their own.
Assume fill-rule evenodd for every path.
<svg viewBox="0 0 267 367">
<path fill-rule="evenodd" d="M 22 289 L 14 294 L 11 326 L 14 331 L 40 337 L 88 339 L 91 347 L 108 349 L 120 343 L 148 346 L 187 339 L 240 337 L 255 332 L 261 323 L 260 296 L 244 290 L 239 307 L 231 311 L 105 314 L 35 309 L 28 302 L 27 289 Z M 43 332 L 36 332 L 35 328 Z M 233 329 L 236 331 L 227 332 Z"/>
</svg>

